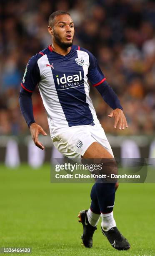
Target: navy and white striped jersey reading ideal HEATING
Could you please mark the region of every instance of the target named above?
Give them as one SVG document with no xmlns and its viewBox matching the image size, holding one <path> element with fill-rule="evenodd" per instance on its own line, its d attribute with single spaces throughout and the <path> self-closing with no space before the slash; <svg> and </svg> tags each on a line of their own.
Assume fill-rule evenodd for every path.
<svg viewBox="0 0 155 256">
<path fill-rule="evenodd" d="M 33 92 L 38 84 L 53 132 L 55 128 L 99 123 L 87 80 L 94 86 L 105 81 L 89 51 L 74 45 L 62 56 L 48 46 L 28 61 L 21 85 Z"/>
</svg>

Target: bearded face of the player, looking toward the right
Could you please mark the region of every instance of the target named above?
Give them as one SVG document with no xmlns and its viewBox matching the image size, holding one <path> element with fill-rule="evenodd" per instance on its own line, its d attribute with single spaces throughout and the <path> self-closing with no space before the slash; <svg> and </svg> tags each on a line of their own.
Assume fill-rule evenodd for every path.
<svg viewBox="0 0 155 256">
<path fill-rule="evenodd" d="M 70 15 L 59 15 L 55 17 L 54 27 L 51 30 L 53 41 L 62 48 L 72 46 L 74 37 L 74 23 Z"/>
</svg>

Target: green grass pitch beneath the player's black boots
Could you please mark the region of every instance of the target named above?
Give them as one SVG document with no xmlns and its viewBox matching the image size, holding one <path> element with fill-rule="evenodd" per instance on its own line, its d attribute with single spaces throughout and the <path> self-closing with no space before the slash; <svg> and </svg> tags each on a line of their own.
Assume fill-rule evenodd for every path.
<svg viewBox="0 0 155 256">
<path fill-rule="evenodd" d="M 90 206 L 91 186 L 50 183 L 49 164 L 0 165 L 0 247 L 32 247 L 32 256 L 154 256 L 155 184 L 120 184 L 116 192 L 114 217 L 129 251 L 112 248 L 100 224 L 93 248 L 82 246 L 77 215 Z"/>
</svg>

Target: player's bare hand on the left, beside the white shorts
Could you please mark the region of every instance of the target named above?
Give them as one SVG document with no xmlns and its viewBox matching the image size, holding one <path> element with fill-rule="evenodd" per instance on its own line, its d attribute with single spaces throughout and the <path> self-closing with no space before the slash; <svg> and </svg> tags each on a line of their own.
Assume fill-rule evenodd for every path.
<svg viewBox="0 0 155 256">
<path fill-rule="evenodd" d="M 42 145 L 41 142 L 38 141 L 38 134 L 41 133 L 42 135 L 46 136 L 47 133 L 45 133 L 45 131 L 42 129 L 42 127 L 40 125 L 37 125 L 37 123 L 32 123 L 30 125 L 30 133 L 31 133 L 31 136 L 32 136 L 32 140 L 35 143 L 35 146 L 44 150 L 45 147 Z"/>
</svg>

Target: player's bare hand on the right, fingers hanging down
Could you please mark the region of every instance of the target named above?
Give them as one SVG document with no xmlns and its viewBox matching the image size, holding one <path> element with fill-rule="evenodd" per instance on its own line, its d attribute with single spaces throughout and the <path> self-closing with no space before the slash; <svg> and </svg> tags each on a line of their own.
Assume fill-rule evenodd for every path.
<svg viewBox="0 0 155 256">
<path fill-rule="evenodd" d="M 114 128 L 116 128 L 117 125 L 119 125 L 120 130 L 124 130 L 125 127 L 128 128 L 127 120 L 126 120 L 125 115 L 121 109 L 116 108 L 108 115 L 108 117 L 115 118 Z"/>
</svg>

